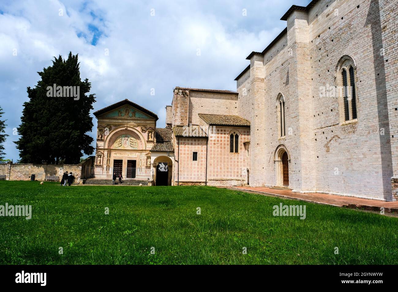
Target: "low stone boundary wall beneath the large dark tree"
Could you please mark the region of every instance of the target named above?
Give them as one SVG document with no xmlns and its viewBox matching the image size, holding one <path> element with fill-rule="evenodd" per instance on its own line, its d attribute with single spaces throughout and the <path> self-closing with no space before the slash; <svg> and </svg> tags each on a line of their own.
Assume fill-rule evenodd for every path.
<svg viewBox="0 0 398 292">
<path fill-rule="evenodd" d="M 72 172 L 75 177 L 74 183 L 81 184 L 86 166 L 92 164 L 94 157 L 90 157 L 81 164 L 0 164 L 0 175 L 5 175 L 6 180 L 30 180 L 32 174 L 35 174 L 35 180 L 44 181 L 46 176 L 59 176 L 61 180 L 62 174 L 67 171 Z"/>
</svg>

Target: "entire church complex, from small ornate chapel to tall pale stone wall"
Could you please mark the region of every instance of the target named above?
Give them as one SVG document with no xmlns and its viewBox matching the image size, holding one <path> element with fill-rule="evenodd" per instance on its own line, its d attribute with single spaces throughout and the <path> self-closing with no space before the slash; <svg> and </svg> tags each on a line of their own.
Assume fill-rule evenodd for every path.
<svg viewBox="0 0 398 292">
<path fill-rule="evenodd" d="M 281 19 L 287 27 L 249 54 L 236 91 L 176 87 L 164 128 L 127 100 L 96 112 L 98 171 L 116 161 L 154 185 L 396 200 L 395 3 L 313 0 Z"/>
</svg>

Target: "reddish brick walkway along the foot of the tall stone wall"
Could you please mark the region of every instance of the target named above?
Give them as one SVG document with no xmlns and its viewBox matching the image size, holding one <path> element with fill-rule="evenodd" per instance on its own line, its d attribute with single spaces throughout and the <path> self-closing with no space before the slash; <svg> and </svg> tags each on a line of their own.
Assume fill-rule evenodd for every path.
<svg viewBox="0 0 398 292">
<path fill-rule="evenodd" d="M 294 193 L 291 190 L 276 190 L 265 187 L 249 187 L 238 186 L 230 189 L 240 191 L 250 191 L 256 193 L 263 193 L 267 195 L 274 195 L 277 197 L 285 197 L 289 199 L 298 199 L 302 201 L 334 205 L 339 207 L 359 208 L 370 211 L 380 212 L 380 207 L 384 207 L 385 213 L 398 213 L 398 201 L 386 202 L 372 199 L 362 199 L 355 197 L 344 197 L 339 195 L 327 195 L 323 193 Z"/>
</svg>

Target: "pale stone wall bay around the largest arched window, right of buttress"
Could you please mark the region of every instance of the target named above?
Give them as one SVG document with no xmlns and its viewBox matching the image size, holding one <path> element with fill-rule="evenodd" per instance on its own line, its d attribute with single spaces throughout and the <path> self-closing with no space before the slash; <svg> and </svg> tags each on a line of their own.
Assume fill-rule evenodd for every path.
<svg viewBox="0 0 398 292">
<path fill-rule="evenodd" d="M 310 25 L 310 63 L 316 108 L 313 140 L 317 189 L 390 200 L 392 166 L 388 116 L 385 92 L 377 85 L 382 83 L 384 72 L 380 67 L 384 64 L 381 61 L 376 65 L 380 57 L 381 35 L 377 39 L 373 29 L 381 25 L 377 21 L 380 9 L 372 2 L 336 1 L 324 11 L 320 2 L 309 15 L 310 21 L 314 19 Z M 335 9 L 338 15 L 333 13 Z M 314 15 L 315 11 L 318 17 Z M 374 50 L 377 50 L 376 56 Z M 347 125 L 342 125 L 339 120 L 339 112 L 343 109 L 339 108 L 337 97 L 320 97 L 319 94 L 322 86 L 338 85 L 335 68 L 343 55 L 352 56 L 357 65 L 358 122 Z M 384 134 L 380 135 L 382 129 Z M 332 137 L 335 137 L 333 141 Z M 329 141 L 327 152 L 325 145 Z"/>
</svg>

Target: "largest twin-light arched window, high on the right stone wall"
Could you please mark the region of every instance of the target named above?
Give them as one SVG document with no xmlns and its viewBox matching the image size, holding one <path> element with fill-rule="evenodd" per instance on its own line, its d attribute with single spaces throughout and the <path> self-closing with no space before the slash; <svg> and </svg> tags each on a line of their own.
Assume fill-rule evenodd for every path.
<svg viewBox="0 0 398 292">
<path fill-rule="evenodd" d="M 357 119 L 357 94 L 355 88 L 355 61 L 351 56 L 340 58 L 336 66 L 340 122 Z"/>
</svg>

